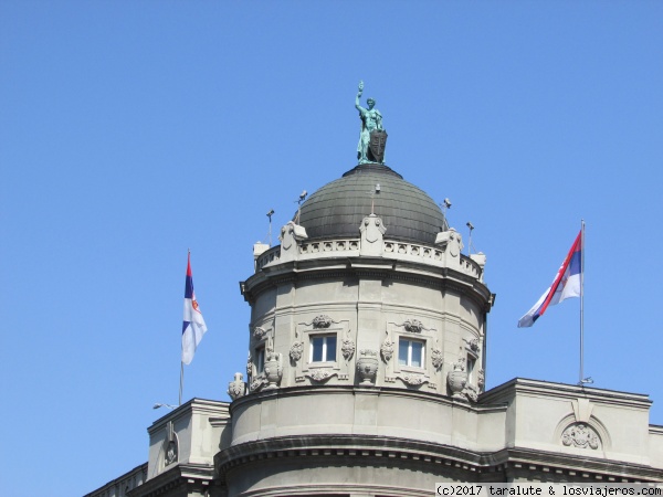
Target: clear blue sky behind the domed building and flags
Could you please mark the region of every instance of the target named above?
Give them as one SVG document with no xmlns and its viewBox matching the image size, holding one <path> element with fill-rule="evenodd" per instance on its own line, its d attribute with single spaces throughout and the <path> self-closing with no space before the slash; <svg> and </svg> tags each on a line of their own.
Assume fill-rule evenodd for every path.
<svg viewBox="0 0 663 497">
<path fill-rule="evenodd" d="M 516 322 L 583 218 L 586 373 L 663 424 L 663 3 L 4 0 L 0 71 L 3 495 L 147 459 L 187 248 L 209 332 L 183 396 L 228 399 L 252 244 L 356 165 L 360 78 L 389 166 L 487 254 L 488 388 L 578 381 L 578 299 Z"/>
</svg>

